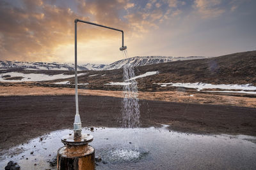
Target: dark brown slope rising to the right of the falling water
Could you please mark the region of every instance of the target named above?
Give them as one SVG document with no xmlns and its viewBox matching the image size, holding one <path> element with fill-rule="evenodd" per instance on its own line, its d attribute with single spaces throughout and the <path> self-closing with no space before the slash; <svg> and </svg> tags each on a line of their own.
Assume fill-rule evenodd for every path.
<svg viewBox="0 0 256 170">
<path fill-rule="evenodd" d="M 186 60 L 143 66 L 140 72 L 159 71 L 145 82 L 213 83 L 256 85 L 256 51 L 232 53 L 202 60 Z"/>
</svg>

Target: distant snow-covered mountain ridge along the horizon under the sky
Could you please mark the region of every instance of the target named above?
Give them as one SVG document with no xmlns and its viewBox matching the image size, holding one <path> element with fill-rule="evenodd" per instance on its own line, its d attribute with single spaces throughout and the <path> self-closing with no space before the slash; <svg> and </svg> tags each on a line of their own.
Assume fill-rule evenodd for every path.
<svg viewBox="0 0 256 170">
<path fill-rule="evenodd" d="M 118 60 L 112 64 L 82 64 L 77 66 L 78 70 L 110 70 L 120 69 L 125 64 L 130 63 L 132 66 L 146 66 L 159 64 L 163 62 L 173 62 L 176 60 L 205 59 L 207 57 L 165 57 L 165 56 L 144 56 L 131 57 L 128 59 Z M 19 61 L 0 61 L 0 69 L 22 68 L 28 70 L 74 70 L 74 64 L 58 62 L 19 62 Z"/>
</svg>

